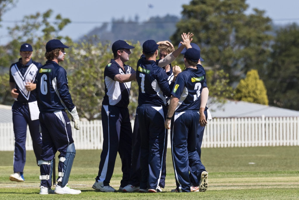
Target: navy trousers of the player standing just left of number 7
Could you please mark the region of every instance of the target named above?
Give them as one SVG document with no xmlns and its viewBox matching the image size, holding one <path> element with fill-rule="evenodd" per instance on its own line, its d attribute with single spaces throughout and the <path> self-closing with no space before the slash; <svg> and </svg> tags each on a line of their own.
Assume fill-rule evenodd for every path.
<svg viewBox="0 0 299 200">
<path fill-rule="evenodd" d="M 132 125 L 128 108 L 102 105 L 103 151 L 96 181 L 108 186 L 114 171 L 117 153 L 123 178 L 120 187 L 129 184 L 132 156 Z"/>
</svg>

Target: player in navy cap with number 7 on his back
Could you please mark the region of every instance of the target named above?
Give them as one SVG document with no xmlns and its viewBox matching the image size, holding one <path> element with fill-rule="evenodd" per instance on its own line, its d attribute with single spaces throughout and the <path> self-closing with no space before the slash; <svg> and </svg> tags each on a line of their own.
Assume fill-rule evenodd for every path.
<svg viewBox="0 0 299 200">
<path fill-rule="evenodd" d="M 182 39 L 184 45 L 190 45 L 188 34 L 183 33 Z M 142 45 L 145 58 L 141 57 L 137 63 L 136 79 L 139 88 L 137 114 L 141 136 L 139 192 L 157 192 L 167 140 L 167 132 L 161 122 L 166 115 L 165 96 L 170 96 L 173 83 L 169 85 L 166 72 L 156 64 L 158 46 L 154 40 L 145 41 Z M 179 49 L 179 52 L 183 48 Z"/>
</svg>

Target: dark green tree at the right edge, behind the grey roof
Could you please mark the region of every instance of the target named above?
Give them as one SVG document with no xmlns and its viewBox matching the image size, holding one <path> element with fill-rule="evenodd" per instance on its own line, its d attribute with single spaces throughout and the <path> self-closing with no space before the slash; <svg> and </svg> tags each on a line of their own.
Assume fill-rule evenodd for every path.
<svg viewBox="0 0 299 200">
<path fill-rule="evenodd" d="M 299 26 L 295 23 L 276 31 L 271 63 L 263 72 L 272 106 L 299 110 Z"/>
</svg>

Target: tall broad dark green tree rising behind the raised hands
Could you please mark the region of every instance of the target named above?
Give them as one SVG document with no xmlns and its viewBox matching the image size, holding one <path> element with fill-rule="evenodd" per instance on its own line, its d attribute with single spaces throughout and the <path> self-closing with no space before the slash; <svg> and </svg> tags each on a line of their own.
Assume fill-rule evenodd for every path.
<svg viewBox="0 0 299 200">
<path fill-rule="evenodd" d="M 223 69 L 232 85 L 249 69 L 262 70 L 270 53 L 271 19 L 258 9 L 246 15 L 247 8 L 245 0 L 192 0 L 170 39 L 178 44 L 182 32 L 192 32 L 205 65 Z"/>
</svg>

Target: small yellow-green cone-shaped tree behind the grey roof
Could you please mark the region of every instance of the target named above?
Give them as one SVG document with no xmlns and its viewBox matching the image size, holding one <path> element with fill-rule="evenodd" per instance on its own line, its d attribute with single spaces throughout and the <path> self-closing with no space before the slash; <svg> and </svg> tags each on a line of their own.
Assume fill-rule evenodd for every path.
<svg viewBox="0 0 299 200">
<path fill-rule="evenodd" d="M 235 89 L 234 99 L 268 105 L 267 90 L 256 69 L 247 72 Z"/>
</svg>

